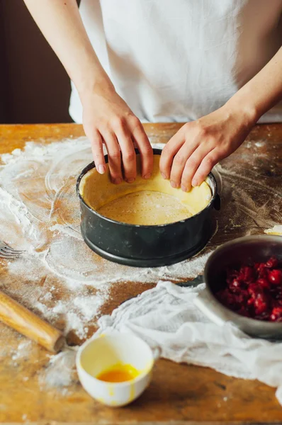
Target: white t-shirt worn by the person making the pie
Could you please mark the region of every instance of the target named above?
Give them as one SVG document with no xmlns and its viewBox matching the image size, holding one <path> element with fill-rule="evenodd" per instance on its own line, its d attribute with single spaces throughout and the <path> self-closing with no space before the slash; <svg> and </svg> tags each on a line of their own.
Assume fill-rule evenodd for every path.
<svg viewBox="0 0 282 425">
<path fill-rule="evenodd" d="M 80 12 L 103 68 L 142 122 L 215 111 L 282 41 L 282 0 L 81 0 Z M 74 84 L 69 113 L 82 122 Z M 279 121 L 282 105 L 260 120 Z"/>
</svg>

